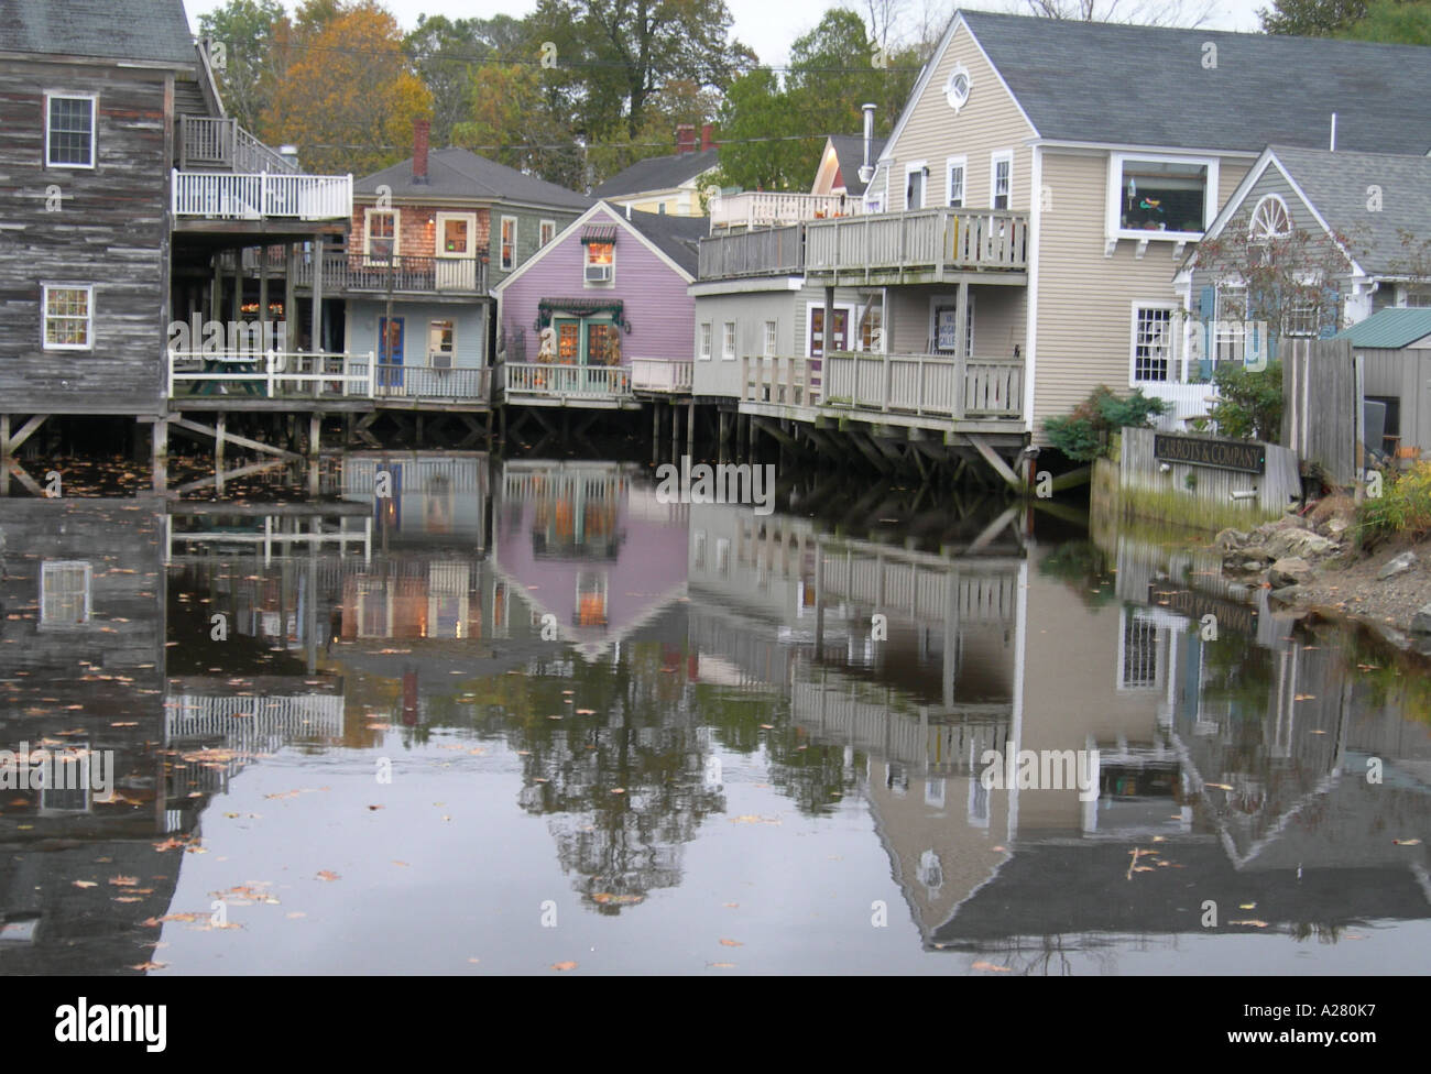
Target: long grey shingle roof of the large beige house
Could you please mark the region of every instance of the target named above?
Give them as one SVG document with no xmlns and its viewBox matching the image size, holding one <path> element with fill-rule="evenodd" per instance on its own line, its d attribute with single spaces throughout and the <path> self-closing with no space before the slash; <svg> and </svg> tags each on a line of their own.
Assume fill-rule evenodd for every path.
<svg viewBox="0 0 1431 1074">
<path fill-rule="evenodd" d="M 1325 37 L 1082 23 L 956 11 L 904 116 L 967 26 L 1037 136 L 1256 153 L 1325 146 L 1431 149 L 1431 49 Z M 1203 67 L 1206 44 L 1216 66 Z M 977 89 L 976 89 L 977 92 Z"/>
</svg>

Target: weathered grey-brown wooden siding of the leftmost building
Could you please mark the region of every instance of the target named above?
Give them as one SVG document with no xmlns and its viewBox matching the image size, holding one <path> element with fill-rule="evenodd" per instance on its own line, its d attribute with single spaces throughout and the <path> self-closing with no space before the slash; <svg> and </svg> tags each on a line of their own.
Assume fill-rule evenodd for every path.
<svg viewBox="0 0 1431 1074">
<path fill-rule="evenodd" d="M 44 93 L 97 94 L 96 167 L 44 166 Z M 0 67 L 0 400 L 10 412 L 157 413 L 167 325 L 172 76 Z M 59 212 L 46 212 L 57 186 Z M 90 350 L 44 350 L 41 285 L 94 286 Z"/>
</svg>

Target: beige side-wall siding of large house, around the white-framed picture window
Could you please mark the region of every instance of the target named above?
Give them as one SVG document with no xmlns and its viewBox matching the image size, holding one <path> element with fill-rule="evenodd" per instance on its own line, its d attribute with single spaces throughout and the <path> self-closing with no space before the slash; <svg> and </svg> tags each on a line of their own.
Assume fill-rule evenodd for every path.
<svg viewBox="0 0 1431 1074">
<path fill-rule="evenodd" d="M 1120 239 L 1103 256 L 1109 156 L 1043 154 L 1043 186 L 1050 205 L 1040 213 L 1037 266 L 1037 345 L 1035 353 L 1033 435 L 1043 442 L 1045 418 L 1065 415 L 1098 385 L 1126 390 L 1132 378 L 1133 302 L 1176 303 L 1178 263 L 1168 240 Z M 1246 160 L 1222 159 L 1219 203 L 1246 174 Z"/>
</svg>

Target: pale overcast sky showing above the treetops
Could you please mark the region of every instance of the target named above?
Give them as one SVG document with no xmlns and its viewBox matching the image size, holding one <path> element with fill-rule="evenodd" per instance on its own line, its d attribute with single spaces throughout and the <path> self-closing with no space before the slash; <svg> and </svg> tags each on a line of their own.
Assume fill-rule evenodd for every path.
<svg viewBox="0 0 1431 1074">
<path fill-rule="evenodd" d="M 1212 17 L 1205 23 L 1212 30 L 1258 30 L 1258 7 L 1269 7 L 1269 0 L 1203 0 L 1213 9 Z M 830 7 L 850 6 L 856 10 L 861 3 L 837 4 L 830 0 L 783 0 L 773 4 L 771 0 L 726 0 L 731 14 L 736 17 L 736 37 L 756 50 L 764 63 L 781 64 L 786 61 L 790 43 L 796 37 L 813 29 L 820 17 Z M 947 14 L 957 7 L 954 0 L 906 0 L 909 10 L 923 10 L 929 4 L 933 11 L 943 11 L 937 21 L 946 23 Z M 445 14 L 449 19 L 489 19 L 494 14 L 511 14 L 521 17 L 537 7 L 535 0 L 385 0 L 389 11 L 398 16 L 404 29 L 412 29 L 421 14 Z M 222 7 L 223 0 L 185 0 L 189 11 L 189 21 L 195 31 L 199 29 L 199 16 Z M 285 0 L 285 6 L 293 10 L 293 0 Z M 985 0 L 983 3 L 969 3 L 970 9 L 983 7 L 986 10 L 1007 10 L 1010 0 Z M 1201 10 L 1201 3 L 1189 0 Z"/>
</svg>

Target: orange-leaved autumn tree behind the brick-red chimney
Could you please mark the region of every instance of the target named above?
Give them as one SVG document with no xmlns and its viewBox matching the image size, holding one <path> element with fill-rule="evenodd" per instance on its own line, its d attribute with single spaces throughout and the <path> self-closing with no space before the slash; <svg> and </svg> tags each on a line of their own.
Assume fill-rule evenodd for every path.
<svg viewBox="0 0 1431 1074">
<path fill-rule="evenodd" d="M 275 34 L 280 76 L 263 112 L 269 142 L 292 142 L 311 172 L 369 174 L 401 160 L 432 96 L 396 20 L 372 0 L 311 0 Z"/>
</svg>

